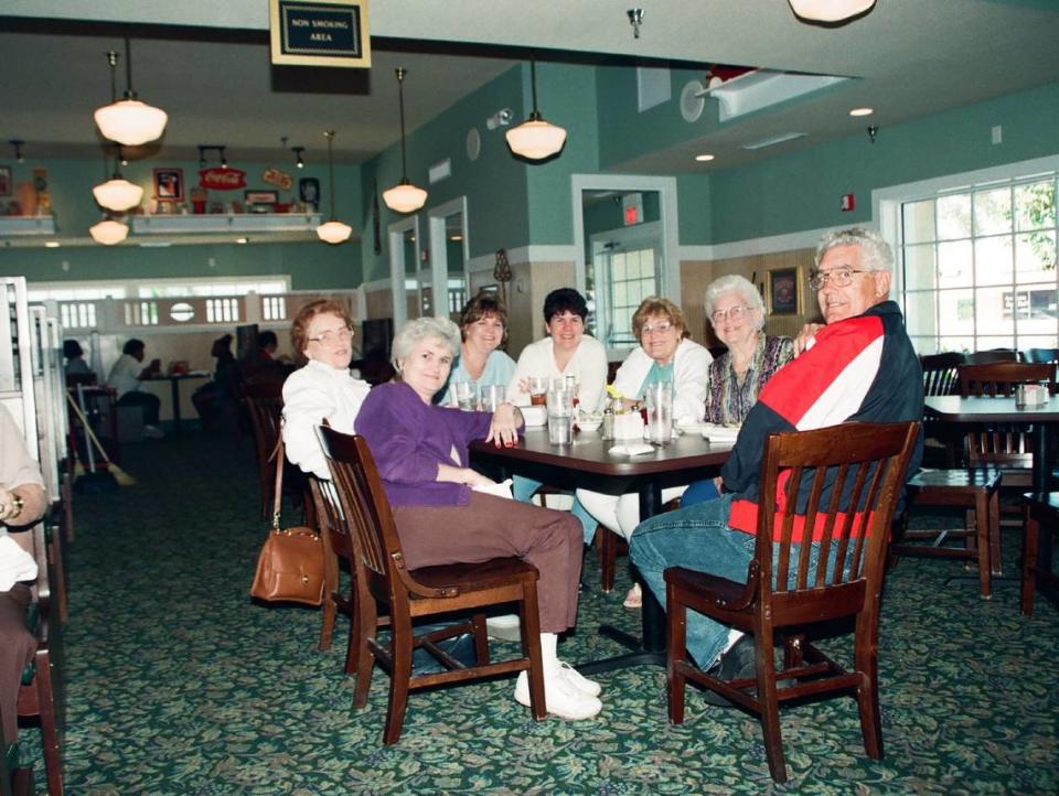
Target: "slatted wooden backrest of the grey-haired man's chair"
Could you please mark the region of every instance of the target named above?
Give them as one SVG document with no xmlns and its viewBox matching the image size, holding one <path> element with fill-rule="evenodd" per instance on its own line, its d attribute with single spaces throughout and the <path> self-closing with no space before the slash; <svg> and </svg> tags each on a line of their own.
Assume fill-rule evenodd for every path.
<svg viewBox="0 0 1059 796">
<path fill-rule="evenodd" d="M 890 520 L 918 427 L 844 423 L 769 437 L 756 551 L 762 611 L 771 612 L 774 603 L 777 607 L 805 605 L 809 614 L 821 615 L 821 610 L 826 614 L 831 609 L 809 609 L 807 595 L 825 588 L 831 593 L 842 585 L 851 587 L 841 592 L 846 596 L 863 594 L 864 582 L 881 581 Z M 782 510 L 763 510 L 780 505 L 778 491 L 784 496 Z M 804 544 L 813 538 L 819 545 L 815 572 L 811 571 L 813 546 Z M 791 549 L 794 545 L 796 551 Z M 838 613 L 847 607 L 841 606 Z"/>
</svg>

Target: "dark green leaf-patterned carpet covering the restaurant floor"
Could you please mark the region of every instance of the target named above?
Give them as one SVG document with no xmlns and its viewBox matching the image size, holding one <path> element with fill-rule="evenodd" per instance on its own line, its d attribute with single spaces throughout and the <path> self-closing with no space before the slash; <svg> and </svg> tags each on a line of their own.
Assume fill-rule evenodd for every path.
<svg viewBox="0 0 1059 796">
<path fill-rule="evenodd" d="M 890 574 L 880 668 L 885 760 L 868 760 L 853 699 L 782 716 L 790 782 L 772 783 L 758 722 L 688 693 L 665 717 L 664 673 L 601 677 L 592 721 L 536 723 L 512 681 L 413 695 L 398 745 L 381 743 L 386 677 L 353 712 L 345 634 L 315 649 L 319 613 L 250 603 L 265 525 L 249 441 L 189 435 L 129 445 L 139 478 L 77 496 L 66 626 L 67 793 L 158 794 L 1052 794 L 1059 790 L 1059 616 L 1019 616 L 945 585 L 956 562 L 906 560 Z M 1020 542 L 1008 533 L 1005 568 Z M 623 569 L 623 563 L 620 562 Z M 635 631 L 609 595 L 582 598 L 573 661 L 621 652 L 602 618 Z M 345 627 L 340 623 L 340 630 Z M 828 642 L 848 659 L 848 641 Z M 23 756 L 39 754 L 33 731 Z M 40 759 L 38 759 L 40 761 Z M 44 792 L 43 764 L 38 787 Z"/>
</svg>

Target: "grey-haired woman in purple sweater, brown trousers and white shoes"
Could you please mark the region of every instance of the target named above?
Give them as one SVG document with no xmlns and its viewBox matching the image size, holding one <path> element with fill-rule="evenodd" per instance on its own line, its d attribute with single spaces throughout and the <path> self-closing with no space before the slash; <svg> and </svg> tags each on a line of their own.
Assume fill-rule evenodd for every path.
<svg viewBox="0 0 1059 796">
<path fill-rule="evenodd" d="M 474 491 L 493 482 L 471 470 L 470 442 L 513 445 L 524 423 L 511 404 L 493 413 L 431 405 L 459 351 L 460 331 L 448 319 L 406 323 L 393 344 L 398 380 L 368 394 L 356 432 L 372 449 L 409 568 L 507 556 L 537 568 L 545 703 L 560 718 L 589 719 L 602 708 L 599 685 L 556 655 L 557 634 L 577 618 L 580 524 L 566 512 Z M 515 700 L 530 704 L 524 671 Z"/>
</svg>

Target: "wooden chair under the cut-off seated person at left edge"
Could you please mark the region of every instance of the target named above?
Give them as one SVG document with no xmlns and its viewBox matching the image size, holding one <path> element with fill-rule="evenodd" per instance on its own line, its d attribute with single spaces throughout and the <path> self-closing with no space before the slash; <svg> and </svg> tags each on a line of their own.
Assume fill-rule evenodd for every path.
<svg viewBox="0 0 1059 796">
<path fill-rule="evenodd" d="M 63 677 L 56 668 L 62 664 L 62 625 L 52 615 L 52 599 L 47 567 L 47 542 L 44 524 L 33 530 L 33 548 L 38 573 L 33 585 L 30 624 L 36 634 L 36 653 L 22 676 L 19 689 L 19 718 L 35 718 L 41 724 L 41 746 L 44 751 L 44 771 L 49 796 L 63 794 Z"/>
</svg>

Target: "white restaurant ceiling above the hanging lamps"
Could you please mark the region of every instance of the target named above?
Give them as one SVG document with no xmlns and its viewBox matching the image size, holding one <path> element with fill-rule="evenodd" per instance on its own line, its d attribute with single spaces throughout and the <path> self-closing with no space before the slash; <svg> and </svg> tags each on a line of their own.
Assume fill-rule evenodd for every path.
<svg viewBox="0 0 1059 796">
<path fill-rule="evenodd" d="M 41 155 L 97 154 L 92 110 L 110 93 L 103 53 L 121 50 L 116 23 L 124 22 L 138 23 L 135 88 L 170 114 L 163 148 L 145 154 L 173 159 L 197 157 L 199 143 L 226 144 L 229 160 L 275 158 L 287 136 L 289 146 L 304 146 L 307 158 L 320 161 L 322 130 L 334 128 L 336 157 L 360 162 L 398 138 L 394 67 L 409 69 L 406 106 L 415 129 L 527 47 L 542 60 L 588 53 L 590 61 L 618 55 L 857 78 L 620 164 L 622 171 L 700 171 L 691 160 L 700 151 L 717 154 L 709 168 L 725 168 L 868 123 L 885 140 L 887 126 L 1059 79 L 1059 0 L 878 0 L 867 15 L 830 28 L 798 21 L 787 0 L 639 0 L 644 21 L 634 39 L 627 10 L 637 4 L 372 0 L 371 72 L 310 74 L 269 66 L 265 0 L 0 0 L 0 141 L 23 139 Z M 681 88 L 673 86 L 674 99 Z M 862 105 L 876 114 L 867 121 L 847 116 Z M 809 135 L 757 153 L 739 149 L 787 130 Z M 9 157 L 0 149 L 0 159 Z"/>
</svg>

